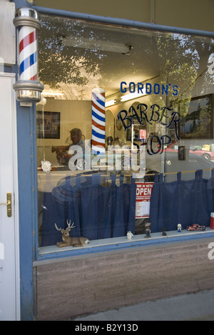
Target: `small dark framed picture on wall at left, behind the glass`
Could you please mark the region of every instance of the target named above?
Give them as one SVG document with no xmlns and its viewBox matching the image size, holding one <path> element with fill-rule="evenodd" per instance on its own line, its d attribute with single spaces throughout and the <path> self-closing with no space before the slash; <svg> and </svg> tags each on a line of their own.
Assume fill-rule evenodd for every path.
<svg viewBox="0 0 214 335">
<path fill-rule="evenodd" d="M 36 112 L 37 138 L 60 138 L 60 112 Z"/>
</svg>

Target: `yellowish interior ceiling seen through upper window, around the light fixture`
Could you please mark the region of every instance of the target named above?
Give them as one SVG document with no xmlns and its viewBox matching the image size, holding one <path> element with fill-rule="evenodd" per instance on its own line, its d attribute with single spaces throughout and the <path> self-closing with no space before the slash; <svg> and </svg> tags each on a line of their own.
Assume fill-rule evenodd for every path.
<svg viewBox="0 0 214 335">
<path fill-rule="evenodd" d="M 91 100 L 91 90 L 95 87 L 104 88 L 107 99 L 115 98 L 120 93 L 121 81 L 138 83 L 160 76 L 165 58 L 172 52 L 165 40 L 165 54 L 159 50 L 157 38 L 163 38 L 161 33 L 113 26 L 106 29 L 102 24 L 54 16 L 41 16 L 41 23 L 39 80 L 46 90 L 57 89 L 64 93 L 62 98 L 69 100 Z M 64 36 L 74 36 L 77 43 L 82 38 L 124 43 L 133 50 L 124 55 L 62 46 Z"/>
</svg>

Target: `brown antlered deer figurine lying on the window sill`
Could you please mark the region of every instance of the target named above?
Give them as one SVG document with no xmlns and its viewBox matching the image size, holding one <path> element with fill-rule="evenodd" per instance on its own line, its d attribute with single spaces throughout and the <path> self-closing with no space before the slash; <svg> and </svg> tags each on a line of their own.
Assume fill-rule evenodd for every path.
<svg viewBox="0 0 214 335">
<path fill-rule="evenodd" d="M 63 230 L 61 228 L 58 228 L 56 223 L 55 223 L 55 227 L 56 230 L 59 230 L 62 233 L 62 242 L 57 242 L 56 245 L 61 248 L 61 247 L 70 247 L 71 245 L 73 245 L 73 247 L 85 247 L 88 243 L 89 243 L 89 239 L 86 239 L 86 237 L 69 237 L 69 232 L 72 228 L 75 228 L 76 226 L 74 225 L 74 222 L 71 225 L 71 220 L 68 223 L 67 220 L 67 225 L 68 227 L 66 228 L 66 230 Z"/>
</svg>

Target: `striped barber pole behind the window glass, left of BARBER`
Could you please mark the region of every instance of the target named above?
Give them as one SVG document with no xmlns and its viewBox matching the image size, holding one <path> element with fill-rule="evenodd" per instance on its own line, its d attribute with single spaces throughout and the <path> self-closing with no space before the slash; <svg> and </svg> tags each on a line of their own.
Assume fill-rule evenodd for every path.
<svg viewBox="0 0 214 335">
<path fill-rule="evenodd" d="M 105 91 L 103 88 L 93 88 L 91 97 L 92 107 L 92 153 L 105 154 L 106 152 L 106 110 Z"/>
</svg>

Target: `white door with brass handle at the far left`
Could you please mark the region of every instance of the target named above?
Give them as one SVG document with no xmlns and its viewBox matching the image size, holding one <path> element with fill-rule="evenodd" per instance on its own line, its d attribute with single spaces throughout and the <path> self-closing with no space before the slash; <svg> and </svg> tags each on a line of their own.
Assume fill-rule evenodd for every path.
<svg viewBox="0 0 214 335">
<path fill-rule="evenodd" d="M 19 215 L 14 75 L 0 73 L 0 321 L 19 320 Z M 7 202 L 11 194 L 11 212 Z"/>
</svg>

